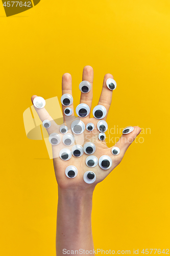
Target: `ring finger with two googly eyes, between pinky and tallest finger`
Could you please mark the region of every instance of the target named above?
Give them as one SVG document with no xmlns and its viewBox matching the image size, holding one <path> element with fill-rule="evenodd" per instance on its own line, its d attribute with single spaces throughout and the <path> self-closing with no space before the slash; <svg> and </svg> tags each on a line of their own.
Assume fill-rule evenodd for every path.
<svg viewBox="0 0 170 256">
<path fill-rule="evenodd" d="M 71 78 L 71 75 L 70 75 L 69 73 L 65 73 L 65 74 L 63 74 L 63 76 L 62 76 L 62 95 L 63 95 L 63 94 L 66 94 L 66 93 L 72 95 L 72 78 Z M 66 108 L 72 109 L 72 114 L 71 114 L 71 116 L 74 116 L 74 106 L 73 106 L 73 103 L 72 103 L 71 105 L 69 105 L 69 106 L 64 106 L 64 105 L 62 105 L 62 111 L 63 111 L 63 118 L 64 118 L 64 121 L 69 119 L 69 116 L 66 116 L 66 115 L 64 114 L 64 110 L 65 110 Z"/>
</svg>

